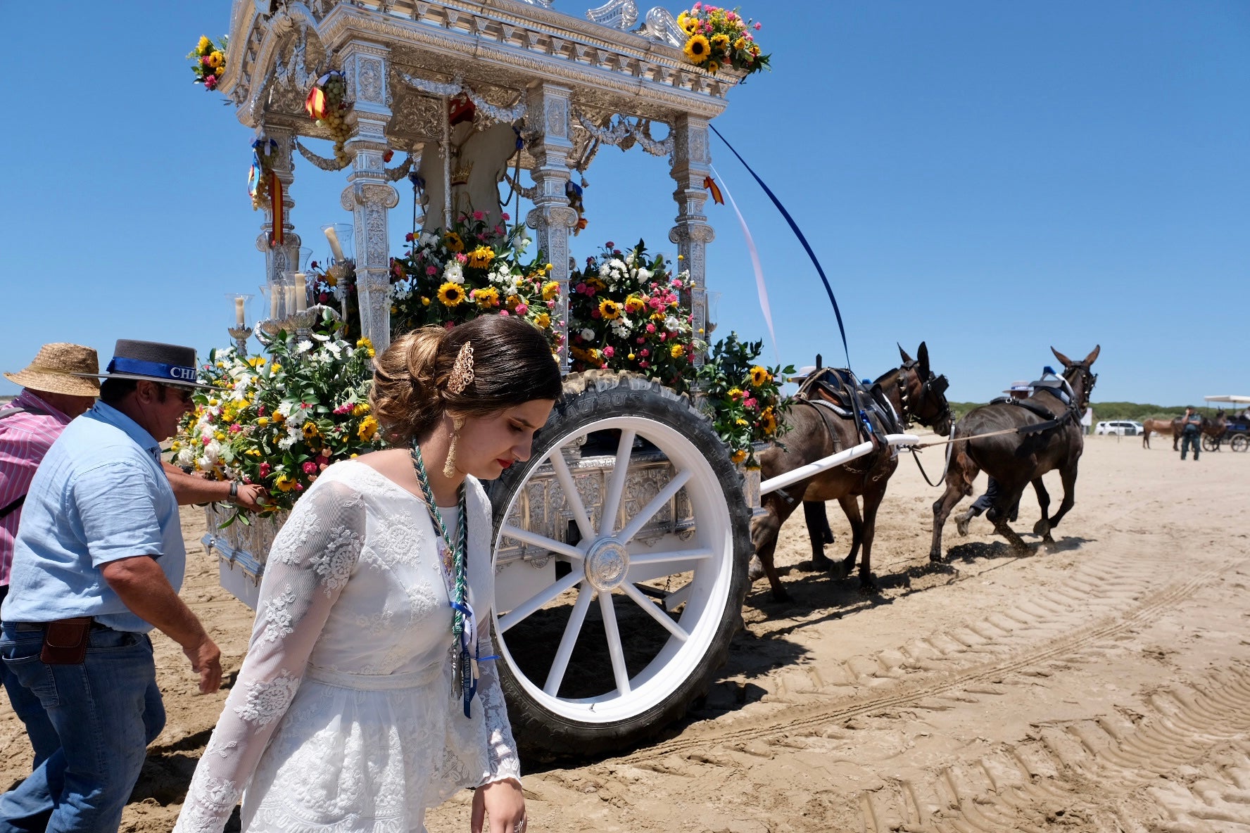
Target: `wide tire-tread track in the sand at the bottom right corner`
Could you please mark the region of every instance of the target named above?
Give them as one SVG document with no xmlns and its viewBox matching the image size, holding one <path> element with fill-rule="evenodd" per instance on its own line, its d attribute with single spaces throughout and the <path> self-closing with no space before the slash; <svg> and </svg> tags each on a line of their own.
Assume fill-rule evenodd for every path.
<svg viewBox="0 0 1250 833">
<path fill-rule="evenodd" d="M 866 833 L 1250 831 L 1250 668 L 1150 697 L 1154 714 L 1045 724 L 1022 743 L 860 794 Z"/>
</svg>

